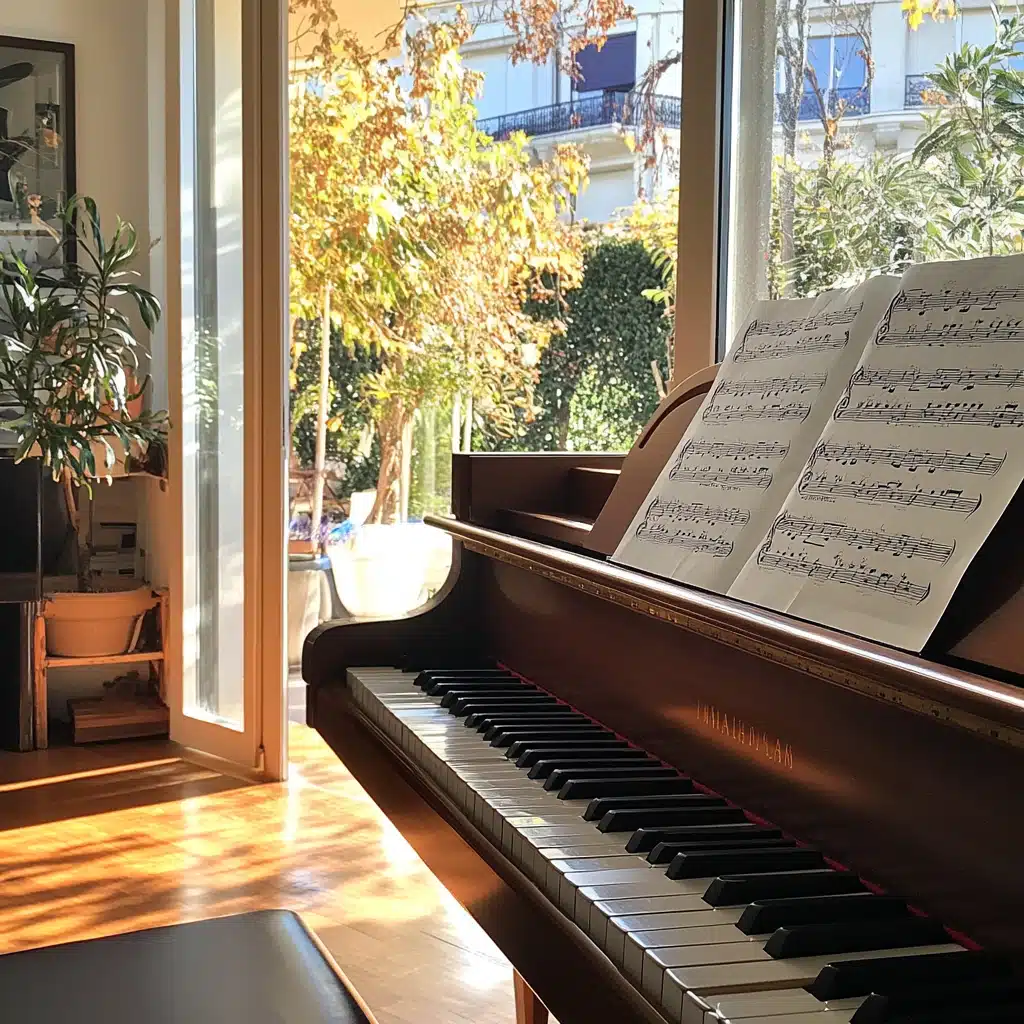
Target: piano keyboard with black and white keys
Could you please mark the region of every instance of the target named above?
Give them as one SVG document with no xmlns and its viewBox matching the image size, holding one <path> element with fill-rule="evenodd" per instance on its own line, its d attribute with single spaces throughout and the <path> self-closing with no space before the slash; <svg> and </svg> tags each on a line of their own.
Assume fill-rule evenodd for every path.
<svg viewBox="0 0 1024 1024">
<path fill-rule="evenodd" d="M 501 670 L 352 697 L 673 1024 L 1024 1019 L 1011 966 Z"/>
</svg>

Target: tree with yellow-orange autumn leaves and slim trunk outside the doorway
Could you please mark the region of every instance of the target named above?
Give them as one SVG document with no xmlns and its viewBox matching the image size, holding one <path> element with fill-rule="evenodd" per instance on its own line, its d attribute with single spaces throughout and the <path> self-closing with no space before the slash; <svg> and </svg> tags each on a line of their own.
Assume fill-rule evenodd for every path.
<svg viewBox="0 0 1024 1024">
<path fill-rule="evenodd" d="M 373 516 L 401 514 L 417 408 L 473 395 L 499 428 L 531 412 L 531 355 L 560 329 L 527 299 L 582 274 L 578 232 L 560 220 L 585 177 L 571 146 L 532 163 L 522 135 L 476 128 L 479 77 L 466 72 L 460 15 L 409 40 L 408 65 L 377 61 L 344 32 L 297 75 L 292 127 L 293 313 L 330 318 L 349 348 L 376 351 L 364 382 L 381 468 Z"/>
</svg>

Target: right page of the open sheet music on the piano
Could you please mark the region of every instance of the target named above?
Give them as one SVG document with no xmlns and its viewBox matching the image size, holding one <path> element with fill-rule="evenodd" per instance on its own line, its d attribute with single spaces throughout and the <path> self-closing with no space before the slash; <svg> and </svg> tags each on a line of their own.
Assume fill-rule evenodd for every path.
<svg viewBox="0 0 1024 1024">
<path fill-rule="evenodd" d="M 920 651 L 1024 478 L 1024 257 L 923 264 L 733 597 Z"/>
</svg>

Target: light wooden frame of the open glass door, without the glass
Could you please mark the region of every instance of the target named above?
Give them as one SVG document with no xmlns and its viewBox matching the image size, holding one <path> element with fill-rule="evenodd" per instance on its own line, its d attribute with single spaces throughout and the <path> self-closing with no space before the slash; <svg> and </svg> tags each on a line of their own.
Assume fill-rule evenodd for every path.
<svg viewBox="0 0 1024 1024">
<path fill-rule="evenodd" d="M 184 507 L 181 293 L 181 0 L 166 0 L 168 408 L 167 701 L 171 738 L 268 779 L 287 768 L 288 92 L 286 0 L 241 0 L 245 287 L 245 659 L 243 732 L 183 708 Z M 250 727 L 251 719 L 251 727 Z"/>
</svg>

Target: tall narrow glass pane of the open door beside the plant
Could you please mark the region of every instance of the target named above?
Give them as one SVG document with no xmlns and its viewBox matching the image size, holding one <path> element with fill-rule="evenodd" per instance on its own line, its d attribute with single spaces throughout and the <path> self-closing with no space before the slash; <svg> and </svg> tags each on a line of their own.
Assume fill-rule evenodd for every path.
<svg viewBox="0 0 1024 1024">
<path fill-rule="evenodd" d="M 242 0 L 181 5 L 184 711 L 244 725 Z"/>
</svg>

